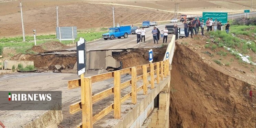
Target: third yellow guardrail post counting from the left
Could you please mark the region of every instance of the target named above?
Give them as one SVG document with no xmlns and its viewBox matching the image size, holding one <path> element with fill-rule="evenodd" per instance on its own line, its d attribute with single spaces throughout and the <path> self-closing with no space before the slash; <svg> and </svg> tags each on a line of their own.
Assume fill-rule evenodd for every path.
<svg viewBox="0 0 256 128">
<path fill-rule="evenodd" d="M 137 68 L 132 67 L 132 103 L 137 103 Z"/>
</svg>

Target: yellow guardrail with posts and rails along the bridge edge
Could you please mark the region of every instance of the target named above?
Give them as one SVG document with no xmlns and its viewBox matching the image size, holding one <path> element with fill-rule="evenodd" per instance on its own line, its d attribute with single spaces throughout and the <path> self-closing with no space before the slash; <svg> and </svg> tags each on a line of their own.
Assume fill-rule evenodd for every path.
<svg viewBox="0 0 256 128">
<path fill-rule="evenodd" d="M 154 69 L 154 66 L 156 69 Z M 147 68 L 150 71 L 147 72 Z M 142 70 L 142 75 L 137 76 L 137 71 Z M 121 83 L 121 75 L 131 73 L 131 79 Z M 155 77 L 156 73 L 156 77 Z M 74 114 L 78 111 L 82 111 L 82 123 L 77 125 L 77 128 L 92 128 L 92 125 L 100 120 L 102 117 L 114 110 L 114 118 L 121 118 L 121 104 L 128 98 L 132 97 L 132 103 L 137 103 L 137 92 L 143 89 L 143 94 L 147 95 L 147 86 L 150 84 L 151 88 L 154 88 L 154 83 L 160 83 L 163 77 L 167 77 L 169 74 L 169 60 L 150 63 L 146 65 L 135 66 L 126 68 L 114 72 L 108 72 L 104 74 L 94 75 L 90 77 L 84 77 L 81 75 L 81 79 L 68 81 L 68 89 L 74 89 L 81 87 L 81 101 L 70 105 L 69 112 Z M 148 81 L 148 77 L 151 77 Z M 114 87 L 101 91 L 98 94 L 92 96 L 92 83 L 114 78 Z M 84 80 L 83 80 L 84 79 Z M 140 87 L 137 87 L 138 81 L 143 81 Z M 131 86 L 131 92 L 121 98 L 121 89 Z M 114 94 L 114 103 L 103 109 L 96 115 L 92 115 L 92 104 L 96 103 L 103 98 L 106 98 Z"/>
</svg>

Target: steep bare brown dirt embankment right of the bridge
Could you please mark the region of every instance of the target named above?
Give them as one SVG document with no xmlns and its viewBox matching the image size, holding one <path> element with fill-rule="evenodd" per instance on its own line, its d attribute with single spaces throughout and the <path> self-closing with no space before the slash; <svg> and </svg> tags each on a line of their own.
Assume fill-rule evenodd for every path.
<svg viewBox="0 0 256 128">
<path fill-rule="evenodd" d="M 251 86 L 210 67 L 184 45 L 176 45 L 171 76 L 170 128 L 256 126 Z"/>
</svg>

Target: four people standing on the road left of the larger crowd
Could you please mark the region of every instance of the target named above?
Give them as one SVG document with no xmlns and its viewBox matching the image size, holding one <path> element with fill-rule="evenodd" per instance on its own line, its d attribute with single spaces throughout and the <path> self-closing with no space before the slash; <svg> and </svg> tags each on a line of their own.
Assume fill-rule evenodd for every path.
<svg viewBox="0 0 256 128">
<path fill-rule="evenodd" d="M 144 42 L 145 42 L 145 33 L 146 30 L 144 29 L 144 27 L 142 27 L 142 30 L 140 29 L 140 27 L 137 27 L 137 29 L 135 30 L 135 33 L 137 34 L 137 44 L 140 44 L 140 42 L 143 41 L 144 38 Z M 152 30 L 152 35 L 153 35 L 153 40 L 154 40 L 154 44 L 160 40 L 160 35 L 161 35 L 161 39 L 163 39 L 163 43 L 167 43 L 167 36 L 168 36 L 168 30 L 167 28 L 165 28 L 164 30 L 162 30 L 160 32 L 160 30 L 156 27 L 154 27 L 154 29 Z"/>
</svg>

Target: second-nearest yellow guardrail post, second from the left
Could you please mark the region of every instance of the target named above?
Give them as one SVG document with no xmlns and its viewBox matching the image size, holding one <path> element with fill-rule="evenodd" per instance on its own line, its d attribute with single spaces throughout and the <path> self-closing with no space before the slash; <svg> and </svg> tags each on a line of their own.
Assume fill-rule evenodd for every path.
<svg viewBox="0 0 256 128">
<path fill-rule="evenodd" d="M 114 72 L 114 118 L 121 118 L 121 73 Z"/>
</svg>

